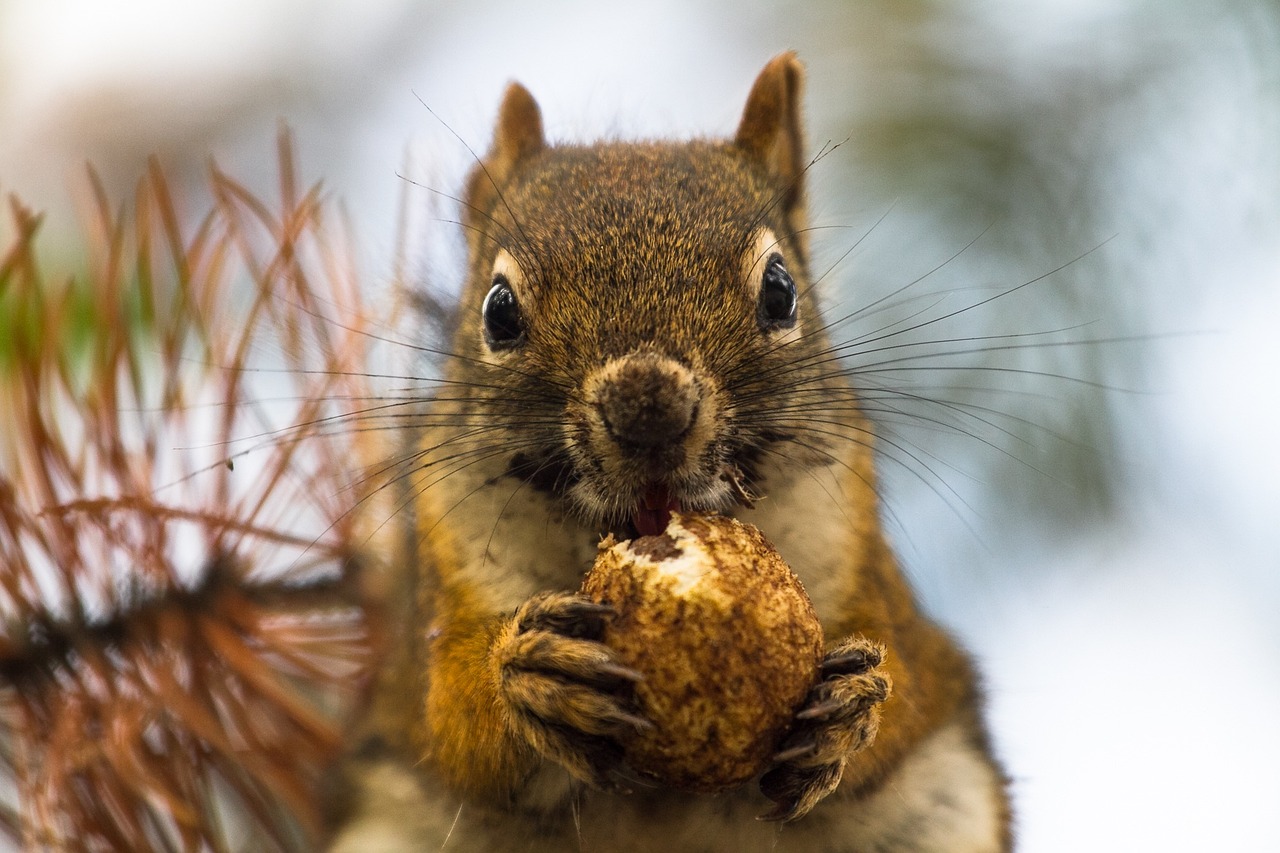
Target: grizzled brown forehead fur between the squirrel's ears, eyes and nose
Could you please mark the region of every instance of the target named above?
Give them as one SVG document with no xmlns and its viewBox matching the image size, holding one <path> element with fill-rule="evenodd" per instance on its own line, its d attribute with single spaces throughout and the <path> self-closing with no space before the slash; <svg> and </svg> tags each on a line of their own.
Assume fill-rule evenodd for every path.
<svg viewBox="0 0 1280 853">
<path fill-rule="evenodd" d="M 467 199 L 483 233 L 468 304 L 480 304 L 506 250 L 521 273 L 530 350 L 599 361 L 649 346 L 681 360 L 748 348 L 759 333 L 745 279 L 762 228 L 808 289 L 774 183 L 727 142 L 543 147 Z"/>
</svg>

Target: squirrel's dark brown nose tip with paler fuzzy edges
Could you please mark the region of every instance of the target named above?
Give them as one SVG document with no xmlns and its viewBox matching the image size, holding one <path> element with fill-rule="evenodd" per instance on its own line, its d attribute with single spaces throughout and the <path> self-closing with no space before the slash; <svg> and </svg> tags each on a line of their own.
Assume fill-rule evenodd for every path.
<svg viewBox="0 0 1280 853">
<path fill-rule="evenodd" d="M 698 418 L 701 393 L 684 365 L 637 353 L 605 368 L 596 405 L 609 437 L 621 447 L 652 451 L 685 437 Z"/>
</svg>

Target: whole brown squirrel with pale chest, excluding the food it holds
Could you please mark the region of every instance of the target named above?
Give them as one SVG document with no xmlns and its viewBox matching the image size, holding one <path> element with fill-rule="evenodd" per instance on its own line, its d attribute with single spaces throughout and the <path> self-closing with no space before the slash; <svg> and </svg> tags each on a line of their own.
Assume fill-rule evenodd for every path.
<svg viewBox="0 0 1280 853">
<path fill-rule="evenodd" d="M 973 666 L 887 544 L 819 313 L 803 83 L 783 53 L 732 140 L 593 145 L 548 143 L 508 86 L 461 199 L 416 553 L 384 590 L 392 652 L 330 849 L 1011 849 Z M 716 795 L 627 777 L 637 674 L 577 592 L 603 534 L 677 510 L 755 524 L 828 639 L 774 763 Z"/>
</svg>

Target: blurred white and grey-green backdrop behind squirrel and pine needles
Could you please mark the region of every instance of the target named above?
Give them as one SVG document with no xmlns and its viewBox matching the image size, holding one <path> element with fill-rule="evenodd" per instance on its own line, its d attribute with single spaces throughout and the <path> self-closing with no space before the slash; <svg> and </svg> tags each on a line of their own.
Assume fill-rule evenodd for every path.
<svg viewBox="0 0 1280 853">
<path fill-rule="evenodd" d="M 508 79 L 554 138 L 723 136 L 786 47 L 887 523 L 1020 849 L 1280 849 L 1280 3 L 0 0 L 0 192 L 74 265 L 86 163 L 270 193 L 284 120 L 370 286 L 448 292 Z"/>
</svg>

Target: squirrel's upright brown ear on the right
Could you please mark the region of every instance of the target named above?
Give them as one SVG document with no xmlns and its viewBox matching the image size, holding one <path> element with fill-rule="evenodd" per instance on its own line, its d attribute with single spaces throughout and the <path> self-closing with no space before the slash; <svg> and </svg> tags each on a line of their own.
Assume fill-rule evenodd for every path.
<svg viewBox="0 0 1280 853">
<path fill-rule="evenodd" d="M 786 187 L 783 210 L 792 210 L 804 193 L 804 127 L 800 92 L 804 65 L 795 53 L 769 60 L 746 96 L 733 145 Z"/>
</svg>

